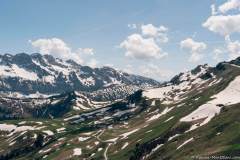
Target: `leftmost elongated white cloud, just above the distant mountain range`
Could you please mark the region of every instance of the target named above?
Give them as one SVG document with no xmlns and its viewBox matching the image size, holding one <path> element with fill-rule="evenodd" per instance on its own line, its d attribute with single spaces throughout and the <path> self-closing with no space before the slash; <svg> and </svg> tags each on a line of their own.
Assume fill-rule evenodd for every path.
<svg viewBox="0 0 240 160">
<path fill-rule="evenodd" d="M 59 38 L 37 39 L 34 41 L 30 40 L 29 42 L 34 48 L 38 49 L 41 54 L 50 54 L 63 60 L 73 59 L 80 64 L 84 63 L 81 57 L 82 54 L 93 55 L 94 53 L 92 48 L 79 48 L 77 51 L 73 51 Z"/>
</svg>

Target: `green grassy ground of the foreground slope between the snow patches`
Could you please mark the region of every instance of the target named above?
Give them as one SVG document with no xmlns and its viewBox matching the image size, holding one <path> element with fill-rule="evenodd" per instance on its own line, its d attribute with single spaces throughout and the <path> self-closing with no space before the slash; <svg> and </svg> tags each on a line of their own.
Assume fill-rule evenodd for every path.
<svg viewBox="0 0 240 160">
<path fill-rule="evenodd" d="M 156 103 L 155 106 L 149 107 L 149 110 L 146 110 L 139 114 L 138 116 L 130 119 L 128 124 L 120 123 L 113 126 L 113 128 L 105 129 L 101 136 L 101 139 L 97 139 L 94 134 L 99 135 L 99 129 L 87 128 L 87 124 L 75 124 L 69 125 L 62 123 L 62 119 L 56 120 L 44 120 L 39 119 L 37 121 L 42 121 L 44 126 L 43 130 L 52 130 L 55 132 L 55 135 L 52 137 L 50 143 L 46 144 L 41 148 L 37 148 L 28 154 L 20 156 L 19 159 L 32 159 L 33 157 L 38 159 L 43 157 L 44 154 L 40 154 L 40 150 L 48 150 L 51 148 L 51 151 L 48 153 L 46 159 L 81 159 L 84 157 L 89 157 L 92 153 L 95 153 L 89 159 L 104 159 L 103 153 L 108 145 L 105 140 L 120 137 L 119 135 L 131 131 L 133 129 L 139 129 L 137 132 L 129 135 L 126 139 L 118 139 L 116 144 L 112 144 L 107 152 L 109 159 L 111 160 L 122 160 L 129 159 L 133 155 L 135 146 L 137 144 L 145 144 L 153 141 L 156 138 L 163 137 L 166 133 L 170 132 L 172 128 L 180 126 L 179 119 L 193 110 L 195 110 L 201 104 L 204 104 L 208 101 L 212 95 L 218 93 L 224 89 L 227 84 L 233 80 L 237 75 L 240 75 L 239 69 L 226 66 L 225 71 L 216 71 L 219 77 L 224 77 L 224 80 L 215 86 L 204 90 L 203 92 L 194 91 L 189 94 L 188 98 L 179 104 L 183 104 L 180 107 L 176 107 L 178 104 L 172 105 L 162 105 Z M 195 100 L 197 97 L 200 99 Z M 151 101 L 151 100 L 150 100 Z M 150 102 L 149 102 L 150 103 Z M 165 107 L 175 107 L 166 115 L 161 116 L 158 120 L 147 122 L 146 119 L 150 118 L 156 110 L 161 112 Z M 240 153 L 240 106 L 233 105 L 225 107 L 225 109 L 218 116 L 214 117 L 207 125 L 202 126 L 194 131 L 184 133 L 179 137 L 174 138 L 173 140 L 166 142 L 164 146 L 160 147 L 156 152 L 154 152 L 148 159 L 191 159 L 191 156 L 196 155 L 239 155 Z M 168 122 L 168 118 L 174 116 Z M 1 123 L 13 123 L 17 124 L 20 121 L 25 120 L 16 120 L 16 121 L 4 121 Z M 26 121 L 34 121 L 26 120 Z M 29 122 L 28 122 L 29 123 Z M 25 124 L 27 125 L 27 124 Z M 55 130 L 57 128 L 65 127 L 66 132 L 57 133 Z M 88 140 L 84 142 L 79 142 L 78 137 L 85 136 L 84 132 L 92 132 Z M 35 131 L 31 131 L 32 134 Z M 219 134 L 220 133 L 220 134 Z M 23 135 L 22 137 L 24 137 Z M 189 142 L 184 145 L 179 150 L 176 148 L 181 145 L 185 140 L 194 137 L 194 141 Z M 64 138 L 62 141 L 58 141 L 60 138 Z M 0 136 L 1 144 L 0 150 L 7 151 L 8 143 L 5 138 Z M 17 142 L 20 144 L 21 141 Z M 98 145 L 95 145 L 95 142 L 99 142 Z M 125 149 L 121 147 L 128 142 L 128 146 Z M 19 144 L 14 144 L 14 147 L 19 147 Z M 92 148 L 88 148 L 87 146 Z M 82 155 L 79 157 L 71 156 L 73 154 L 74 148 L 82 148 Z M 97 151 L 99 148 L 103 148 L 101 151 Z"/>
</svg>

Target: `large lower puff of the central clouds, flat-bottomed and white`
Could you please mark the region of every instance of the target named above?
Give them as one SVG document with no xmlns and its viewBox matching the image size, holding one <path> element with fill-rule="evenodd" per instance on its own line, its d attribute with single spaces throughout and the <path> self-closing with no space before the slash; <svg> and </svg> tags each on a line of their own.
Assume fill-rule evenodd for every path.
<svg viewBox="0 0 240 160">
<path fill-rule="evenodd" d="M 132 34 L 120 44 L 126 49 L 125 56 L 136 59 L 162 58 L 167 55 L 153 38 L 144 38 L 140 34 Z"/>
</svg>

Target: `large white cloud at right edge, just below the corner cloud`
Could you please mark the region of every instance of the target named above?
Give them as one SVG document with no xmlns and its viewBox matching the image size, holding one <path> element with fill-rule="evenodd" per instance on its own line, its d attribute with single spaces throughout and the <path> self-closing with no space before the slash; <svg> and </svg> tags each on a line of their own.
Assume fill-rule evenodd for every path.
<svg viewBox="0 0 240 160">
<path fill-rule="evenodd" d="M 203 27 L 223 36 L 240 32 L 240 14 L 210 16 L 207 21 L 203 23 Z"/>
</svg>

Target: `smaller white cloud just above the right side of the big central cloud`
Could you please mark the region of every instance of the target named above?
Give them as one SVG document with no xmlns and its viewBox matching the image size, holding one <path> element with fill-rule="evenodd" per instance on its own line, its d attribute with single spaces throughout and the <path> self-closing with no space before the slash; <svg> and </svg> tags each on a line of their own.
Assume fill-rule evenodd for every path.
<svg viewBox="0 0 240 160">
<path fill-rule="evenodd" d="M 156 38 L 161 43 L 168 42 L 167 31 L 165 26 L 156 27 L 153 24 L 147 24 L 141 26 L 142 35 Z"/>
</svg>

